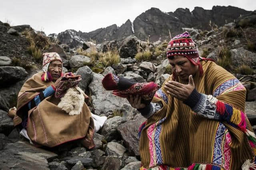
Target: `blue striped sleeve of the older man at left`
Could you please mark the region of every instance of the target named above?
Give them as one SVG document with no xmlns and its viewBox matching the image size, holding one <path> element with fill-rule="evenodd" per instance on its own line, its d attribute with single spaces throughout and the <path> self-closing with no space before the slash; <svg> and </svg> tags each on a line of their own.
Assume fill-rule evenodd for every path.
<svg viewBox="0 0 256 170">
<path fill-rule="evenodd" d="M 55 90 L 54 86 L 47 87 L 44 91 L 40 92 L 40 94 L 36 95 L 30 102 L 28 102 L 28 109 L 38 106 L 42 100 L 54 94 Z"/>
</svg>

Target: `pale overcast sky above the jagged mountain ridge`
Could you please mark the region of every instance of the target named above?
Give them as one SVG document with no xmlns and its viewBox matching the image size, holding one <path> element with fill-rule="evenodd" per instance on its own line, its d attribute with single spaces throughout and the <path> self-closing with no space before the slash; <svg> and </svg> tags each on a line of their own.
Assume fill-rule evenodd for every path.
<svg viewBox="0 0 256 170">
<path fill-rule="evenodd" d="M 256 0 L 0 0 L 0 21 L 28 24 L 46 35 L 66 29 L 90 32 L 116 23 L 118 26 L 151 7 L 164 12 L 200 6 L 236 6 L 256 10 Z"/>
</svg>

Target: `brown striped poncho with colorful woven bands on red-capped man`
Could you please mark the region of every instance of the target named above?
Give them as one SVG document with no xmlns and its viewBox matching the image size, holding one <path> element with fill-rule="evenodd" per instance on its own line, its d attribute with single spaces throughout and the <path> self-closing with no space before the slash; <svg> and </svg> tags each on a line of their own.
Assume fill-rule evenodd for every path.
<svg viewBox="0 0 256 170">
<path fill-rule="evenodd" d="M 163 107 L 140 127 L 141 170 L 255 168 L 256 140 L 244 113 L 246 89 L 214 62 L 200 64 L 203 74 L 193 76 L 195 89 L 208 102 L 191 109 L 163 87 L 156 92 L 152 103 Z"/>
</svg>

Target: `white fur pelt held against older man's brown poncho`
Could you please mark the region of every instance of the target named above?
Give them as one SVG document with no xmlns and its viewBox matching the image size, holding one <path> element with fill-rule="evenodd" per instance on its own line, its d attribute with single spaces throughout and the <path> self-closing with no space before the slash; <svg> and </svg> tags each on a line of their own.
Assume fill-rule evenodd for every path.
<svg viewBox="0 0 256 170">
<path fill-rule="evenodd" d="M 69 115 L 79 115 L 84 106 L 84 92 L 79 87 L 69 88 L 60 100 L 58 107 Z"/>
</svg>

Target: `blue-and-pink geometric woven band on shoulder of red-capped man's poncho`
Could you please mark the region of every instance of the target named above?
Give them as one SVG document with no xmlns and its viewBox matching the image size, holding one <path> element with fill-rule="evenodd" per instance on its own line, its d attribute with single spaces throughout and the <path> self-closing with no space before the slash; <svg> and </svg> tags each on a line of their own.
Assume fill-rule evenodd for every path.
<svg viewBox="0 0 256 170">
<path fill-rule="evenodd" d="M 214 90 L 213 96 L 216 97 L 230 91 L 243 90 L 243 89 L 244 89 L 244 86 L 242 85 L 242 83 L 240 83 L 240 81 L 237 78 L 232 78 L 220 84 L 220 86 L 218 86 Z"/>
</svg>

